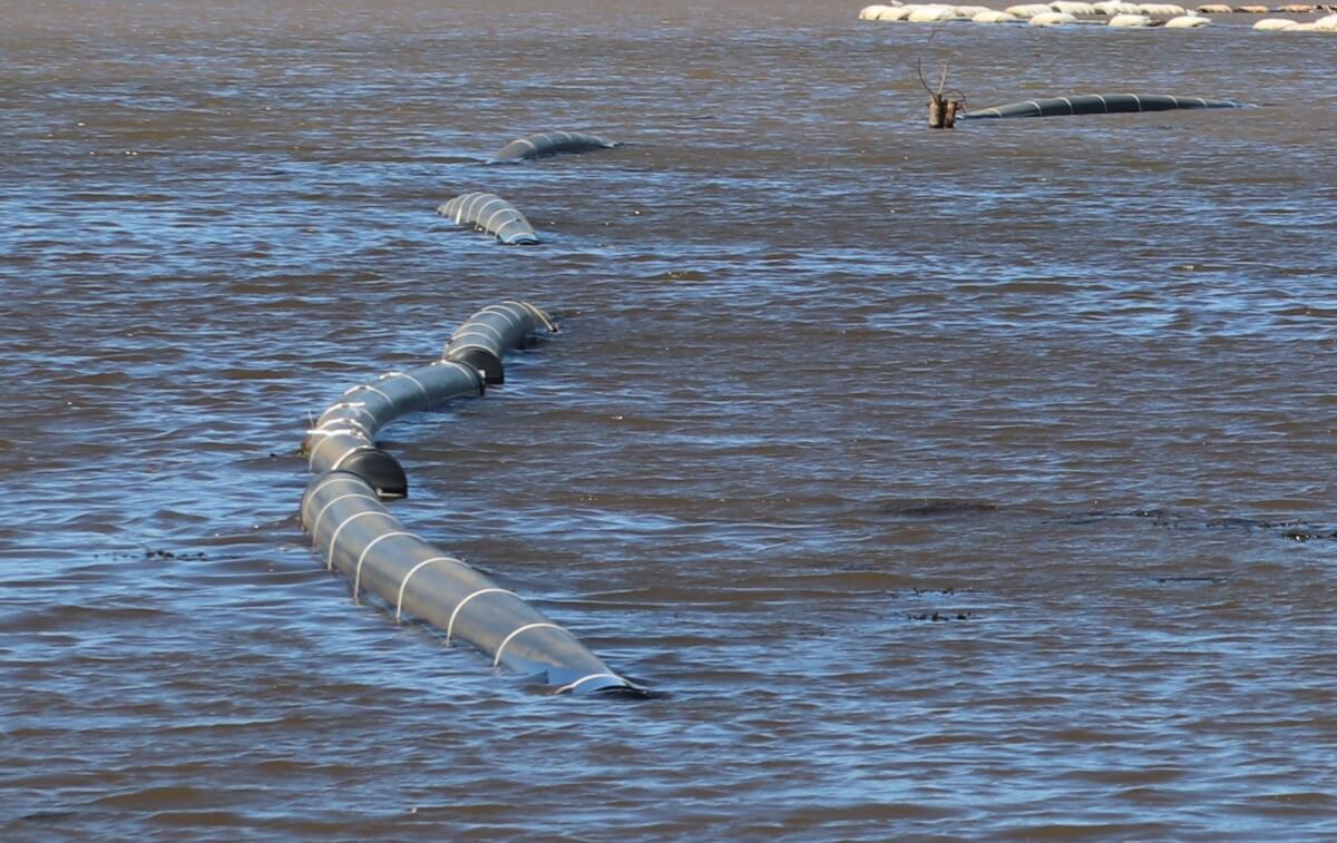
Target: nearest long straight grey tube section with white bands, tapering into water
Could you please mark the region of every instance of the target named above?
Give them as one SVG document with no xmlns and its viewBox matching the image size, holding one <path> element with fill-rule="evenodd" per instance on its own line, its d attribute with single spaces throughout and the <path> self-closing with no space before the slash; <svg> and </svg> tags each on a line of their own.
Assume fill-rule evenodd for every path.
<svg viewBox="0 0 1337 843">
<path fill-rule="evenodd" d="M 468 641 L 493 667 L 532 676 L 556 693 L 622 692 L 643 696 L 571 632 L 468 564 L 404 529 L 361 477 L 330 472 L 302 496 L 302 526 L 325 558 L 353 582 L 353 599 L 378 595 L 394 609 Z"/>
</svg>

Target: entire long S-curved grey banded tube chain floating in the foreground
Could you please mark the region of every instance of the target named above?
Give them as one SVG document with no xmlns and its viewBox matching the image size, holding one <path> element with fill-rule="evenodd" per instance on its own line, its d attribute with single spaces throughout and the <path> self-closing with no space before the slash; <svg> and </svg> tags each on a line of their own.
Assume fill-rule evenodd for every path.
<svg viewBox="0 0 1337 843">
<path fill-rule="evenodd" d="M 302 526 L 325 566 L 352 580 L 354 601 L 366 592 L 378 595 L 394 608 L 396 621 L 405 616 L 424 620 L 445 632 L 447 644 L 467 641 L 491 657 L 493 667 L 532 676 L 554 685 L 556 693 L 647 696 L 566 628 L 405 529 L 382 504 L 382 498 L 404 497 L 408 484 L 398 462 L 374 448 L 376 432 L 448 398 L 481 395 L 487 374 L 475 367 L 473 354 L 485 350 L 500 361 L 532 342 L 540 327 L 554 330 L 547 314 L 525 302 L 485 307 L 448 343 L 447 354 L 455 359 L 390 373 L 345 393 L 308 433 L 316 477 L 302 494 Z M 500 382 L 500 371 L 496 377 Z M 396 472 L 400 486 L 392 482 Z M 386 482 L 389 488 L 377 485 Z"/>
</svg>

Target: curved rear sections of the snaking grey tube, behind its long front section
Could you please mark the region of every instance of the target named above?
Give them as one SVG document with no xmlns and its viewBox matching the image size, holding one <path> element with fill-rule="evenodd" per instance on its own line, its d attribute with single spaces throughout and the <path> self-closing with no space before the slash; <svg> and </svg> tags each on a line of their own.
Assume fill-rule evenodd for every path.
<svg viewBox="0 0 1337 843">
<path fill-rule="evenodd" d="M 302 449 L 312 472 L 350 472 L 380 497 L 405 497 L 408 477 L 394 457 L 376 446 L 376 433 L 408 413 L 481 395 L 485 383 L 503 381 L 501 358 L 533 342 L 540 327 L 551 331 L 552 321 L 533 305 L 492 305 L 456 331 L 441 359 L 349 389 L 306 433 Z"/>
</svg>

